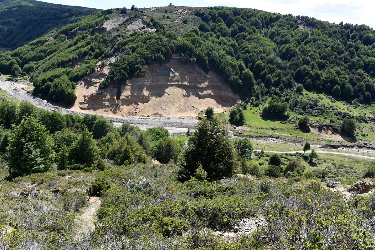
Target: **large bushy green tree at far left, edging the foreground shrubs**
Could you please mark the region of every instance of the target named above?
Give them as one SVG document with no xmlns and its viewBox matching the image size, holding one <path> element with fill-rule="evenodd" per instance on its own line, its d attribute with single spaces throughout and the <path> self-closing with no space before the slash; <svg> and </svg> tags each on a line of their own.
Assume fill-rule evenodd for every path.
<svg viewBox="0 0 375 250">
<path fill-rule="evenodd" d="M 37 118 L 30 116 L 20 125 L 13 125 L 7 147 L 10 176 L 40 173 L 51 168 L 55 154 L 53 140 Z"/>
</svg>

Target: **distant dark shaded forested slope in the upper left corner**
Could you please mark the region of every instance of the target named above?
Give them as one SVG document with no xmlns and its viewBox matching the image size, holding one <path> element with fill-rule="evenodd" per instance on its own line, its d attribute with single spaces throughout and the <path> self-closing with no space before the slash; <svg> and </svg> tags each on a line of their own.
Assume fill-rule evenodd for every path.
<svg viewBox="0 0 375 250">
<path fill-rule="evenodd" d="M 95 10 L 34 0 L 1 0 L 0 48 L 15 49 Z"/>
</svg>

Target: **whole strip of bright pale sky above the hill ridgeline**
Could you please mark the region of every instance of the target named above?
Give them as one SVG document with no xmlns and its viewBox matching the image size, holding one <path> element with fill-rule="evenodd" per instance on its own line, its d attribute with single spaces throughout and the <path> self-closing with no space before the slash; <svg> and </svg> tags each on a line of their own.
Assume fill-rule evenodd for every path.
<svg viewBox="0 0 375 250">
<path fill-rule="evenodd" d="M 166 6 L 169 3 L 178 6 L 231 6 L 254 8 L 281 14 L 312 16 L 329 22 L 352 24 L 366 24 L 375 28 L 375 0 L 43 0 L 48 3 L 59 3 L 74 6 L 110 9 L 117 7 L 156 7 Z"/>
</svg>

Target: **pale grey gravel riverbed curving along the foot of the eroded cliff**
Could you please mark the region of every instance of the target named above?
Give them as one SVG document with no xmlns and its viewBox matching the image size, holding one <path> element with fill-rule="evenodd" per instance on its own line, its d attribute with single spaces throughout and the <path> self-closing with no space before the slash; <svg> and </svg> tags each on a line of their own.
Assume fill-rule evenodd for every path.
<svg viewBox="0 0 375 250">
<path fill-rule="evenodd" d="M 10 82 L 0 79 L 0 88 L 5 90 L 10 97 L 17 98 L 19 100 L 27 101 L 39 109 L 44 110 L 55 110 L 62 114 L 78 114 L 81 116 L 86 115 L 88 112 L 76 112 L 64 107 L 56 106 L 52 103 L 34 97 L 27 92 L 30 89 L 31 84 L 29 82 Z M 198 125 L 198 121 L 193 118 L 178 118 L 178 117 L 120 117 L 120 116 L 107 116 L 103 115 L 104 118 L 112 120 L 115 126 L 121 126 L 121 124 L 131 124 L 138 126 L 145 130 L 151 127 L 163 127 L 168 129 L 171 134 L 179 135 L 186 134 L 187 128 L 193 128 Z"/>
</svg>

